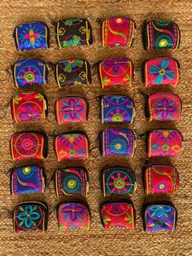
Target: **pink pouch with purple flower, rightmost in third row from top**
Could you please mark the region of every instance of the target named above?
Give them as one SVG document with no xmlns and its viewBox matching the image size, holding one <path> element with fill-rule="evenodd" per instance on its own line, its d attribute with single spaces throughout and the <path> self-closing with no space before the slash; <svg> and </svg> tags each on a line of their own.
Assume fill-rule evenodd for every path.
<svg viewBox="0 0 192 256">
<path fill-rule="evenodd" d="M 181 98 L 169 92 L 148 95 L 145 113 L 148 121 L 180 121 Z"/>
</svg>

